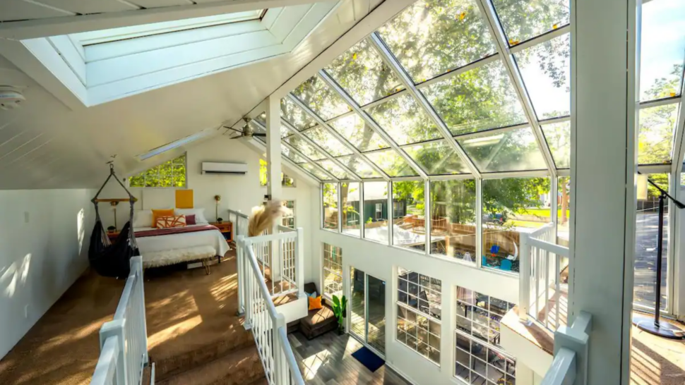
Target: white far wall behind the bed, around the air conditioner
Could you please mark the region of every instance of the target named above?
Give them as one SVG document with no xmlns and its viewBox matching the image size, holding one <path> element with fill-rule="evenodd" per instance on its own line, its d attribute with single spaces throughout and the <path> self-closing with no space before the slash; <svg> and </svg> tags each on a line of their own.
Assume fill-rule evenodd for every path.
<svg viewBox="0 0 685 385">
<path fill-rule="evenodd" d="M 227 209 L 237 209 L 249 215 L 252 207 L 258 206 L 263 202 L 266 195 L 266 187 L 259 184 L 259 159 L 261 153 L 253 147 L 245 145 L 240 140 L 230 140 L 226 136 L 220 135 L 205 142 L 193 144 L 186 152 L 187 167 L 187 188 L 193 190 L 194 206 L 204 208 L 205 216 L 208 221 L 216 219 L 216 204 L 214 195 L 221 195 L 219 204 L 219 216 L 227 220 Z M 246 175 L 216 175 L 202 173 L 203 161 L 231 162 L 247 164 Z M 294 188 L 283 188 L 281 200 L 295 201 L 295 226 L 304 228 L 304 236 L 311 237 L 311 197 L 314 185 L 307 183 L 303 179 L 298 179 L 297 175 L 285 168 L 285 173 L 295 178 Z M 106 174 L 102 176 L 105 181 Z M 130 188 L 131 193 L 138 198 L 136 209 L 166 209 L 173 208 L 175 205 L 174 188 Z M 107 187 L 102 190 L 100 197 L 126 197 L 126 192 L 115 181 L 110 181 Z M 100 216 L 105 228 L 114 225 L 114 215 L 109 204 L 100 204 Z M 129 204 L 120 203 L 117 206 L 117 225 L 118 228 L 124 226 L 129 220 Z M 304 254 L 309 260 L 310 247 L 306 243 Z M 311 279 L 310 265 L 306 264 L 304 269 L 306 279 Z"/>
</svg>

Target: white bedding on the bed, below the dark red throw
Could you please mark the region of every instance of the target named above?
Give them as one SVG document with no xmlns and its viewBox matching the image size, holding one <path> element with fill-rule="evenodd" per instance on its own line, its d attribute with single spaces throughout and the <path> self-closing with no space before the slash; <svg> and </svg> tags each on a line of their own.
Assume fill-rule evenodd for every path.
<svg viewBox="0 0 685 385">
<path fill-rule="evenodd" d="M 188 225 L 204 226 L 206 224 Z M 134 231 L 153 230 L 151 227 L 138 227 Z M 223 234 L 218 230 L 195 231 L 193 233 L 168 234 L 165 236 L 136 237 L 138 249 L 145 259 L 145 253 L 167 250 L 186 249 L 188 247 L 211 246 L 217 250 L 217 255 L 224 256 L 230 247 Z"/>
</svg>

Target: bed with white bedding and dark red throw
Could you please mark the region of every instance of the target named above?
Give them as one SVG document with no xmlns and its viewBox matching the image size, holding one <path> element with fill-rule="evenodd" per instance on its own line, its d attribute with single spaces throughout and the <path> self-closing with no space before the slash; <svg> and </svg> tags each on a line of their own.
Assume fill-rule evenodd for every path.
<svg viewBox="0 0 685 385">
<path fill-rule="evenodd" d="M 140 226 L 150 224 L 147 219 L 137 224 L 133 231 L 145 268 L 201 261 L 209 273 L 210 259 L 223 257 L 230 250 L 219 229 L 205 221 L 174 228 Z"/>
</svg>

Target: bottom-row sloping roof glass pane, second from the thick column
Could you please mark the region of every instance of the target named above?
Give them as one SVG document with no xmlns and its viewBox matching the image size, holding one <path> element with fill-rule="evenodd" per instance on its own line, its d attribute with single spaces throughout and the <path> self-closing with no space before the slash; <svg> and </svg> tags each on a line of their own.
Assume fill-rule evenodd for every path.
<svg viewBox="0 0 685 385">
<path fill-rule="evenodd" d="M 457 140 L 481 172 L 547 169 L 530 127 L 478 133 Z"/>
</svg>

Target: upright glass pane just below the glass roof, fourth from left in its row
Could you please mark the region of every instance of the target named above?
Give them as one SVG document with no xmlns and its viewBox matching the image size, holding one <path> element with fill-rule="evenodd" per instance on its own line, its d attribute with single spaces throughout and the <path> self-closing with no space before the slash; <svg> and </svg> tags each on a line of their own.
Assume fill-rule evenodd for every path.
<svg viewBox="0 0 685 385">
<path fill-rule="evenodd" d="M 424 181 L 393 182 L 393 245 L 426 250 Z"/>
</svg>

